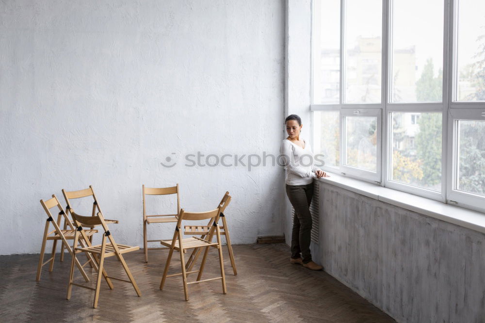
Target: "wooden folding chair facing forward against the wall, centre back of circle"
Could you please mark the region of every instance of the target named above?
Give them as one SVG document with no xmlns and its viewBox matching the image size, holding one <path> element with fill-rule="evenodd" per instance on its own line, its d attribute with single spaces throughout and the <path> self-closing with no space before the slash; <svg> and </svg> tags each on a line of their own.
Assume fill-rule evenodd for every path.
<svg viewBox="0 0 485 323">
<path fill-rule="evenodd" d="M 145 253 L 145 262 L 148 262 L 148 250 L 149 249 L 167 249 L 162 248 L 148 248 L 148 242 L 160 242 L 162 239 L 158 240 L 147 240 L 146 225 L 151 223 L 168 223 L 177 222 L 177 215 L 180 212 L 180 195 L 177 186 L 165 187 L 165 188 L 150 188 L 142 185 L 143 192 L 143 252 Z M 145 195 L 168 195 L 177 194 L 177 214 L 158 214 L 158 215 L 146 215 L 146 201 Z"/>
</svg>

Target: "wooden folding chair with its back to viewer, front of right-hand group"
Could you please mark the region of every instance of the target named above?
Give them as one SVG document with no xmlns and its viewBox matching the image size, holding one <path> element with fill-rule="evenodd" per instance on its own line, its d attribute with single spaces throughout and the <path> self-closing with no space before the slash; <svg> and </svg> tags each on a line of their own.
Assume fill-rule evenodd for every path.
<svg viewBox="0 0 485 323">
<path fill-rule="evenodd" d="M 215 219 L 219 216 L 219 213 L 221 212 L 220 208 L 217 208 L 215 210 L 211 210 L 208 212 L 198 212 L 198 213 L 189 213 L 189 212 L 184 212 L 184 210 L 180 210 L 180 213 L 178 214 L 178 221 L 177 221 L 177 226 L 175 228 L 174 232 L 174 237 L 173 239 L 167 240 L 167 241 L 162 241 L 162 245 L 165 245 L 167 247 L 170 247 L 170 251 L 168 252 L 168 258 L 165 263 L 165 269 L 163 271 L 163 276 L 162 276 L 162 281 L 160 282 L 160 289 L 163 290 L 163 285 L 165 284 L 165 279 L 167 277 L 172 277 L 172 276 L 178 276 L 182 275 L 182 282 L 183 282 L 183 290 L 185 294 L 185 300 L 189 300 L 189 291 L 188 291 L 188 285 L 190 284 L 196 284 L 196 283 L 202 283 L 210 280 L 216 280 L 216 279 L 221 279 L 222 280 L 222 292 L 226 294 L 226 276 L 224 275 L 224 260 L 222 257 L 222 244 L 221 244 L 221 229 L 219 225 L 216 222 L 213 222 L 213 226 L 215 228 L 216 232 L 216 237 L 217 237 L 217 242 L 210 242 L 207 240 L 204 240 L 202 238 L 198 237 L 192 237 L 192 238 L 182 238 L 182 231 L 181 231 L 181 222 L 182 220 L 189 220 L 189 221 L 194 221 L 194 220 L 207 220 L 207 219 Z M 204 267 L 206 258 L 204 257 L 202 259 L 201 263 L 201 269 L 200 270 L 195 270 L 195 271 L 186 271 L 185 270 L 185 260 L 184 260 L 184 252 L 187 249 L 193 249 L 193 248 L 217 248 L 219 250 L 219 266 L 221 268 L 221 276 L 220 277 L 215 277 L 215 278 L 209 278 L 209 279 L 204 279 L 200 280 L 200 274 L 202 273 L 202 269 Z M 172 275 L 167 275 L 168 274 L 168 268 L 170 265 L 170 260 L 172 259 L 172 254 L 174 250 L 177 250 L 178 253 L 180 254 L 180 267 L 182 268 L 182 272 L 178 274 L 172 274 Z M 193 273 L 199 273 L 199 277 L 197 277 L 197 280 L 187 282 L 187 275 L 188 274 L 193 274 Z"/>
</svg>

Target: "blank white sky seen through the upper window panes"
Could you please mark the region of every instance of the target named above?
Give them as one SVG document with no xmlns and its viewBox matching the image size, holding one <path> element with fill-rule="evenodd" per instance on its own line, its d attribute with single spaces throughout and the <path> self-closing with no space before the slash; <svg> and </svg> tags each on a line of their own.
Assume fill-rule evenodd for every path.
<svg viewBox="0 0 485 323">
<path fill-rule="evenodd" d="M 323 48 L 339 48 L 340 0 L 322 3 Z M 393 0 L 393 48 L 416 48 L 418 75 L 428 57 L 435 73 L 443 63 L 444 0 Z M 347 0 L 347 46 L 355 46 L 358 36 L 381 35 L 381 0 Z M 473 62 L 478 50 L 476 39 L 485 34 L 485 0 L 459 0 L 459 66 Z"/>
</svg>

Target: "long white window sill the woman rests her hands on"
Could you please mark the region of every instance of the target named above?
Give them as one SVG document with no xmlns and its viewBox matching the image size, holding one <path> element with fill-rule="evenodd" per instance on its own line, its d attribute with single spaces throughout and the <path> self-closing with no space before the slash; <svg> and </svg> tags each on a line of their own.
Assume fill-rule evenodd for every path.
<svg viewBox="0 0 485 323">
<path fill-rule="evenodd" d="M 481 233 L 485 233 L 485 214 L 467 210 L 425 197 L 396 191 L 354 178 L 329 173 L 328 178 L 317 180 L 338 186 L 351 192 L 361 194 L 376 200 L 401 207 L 406 210 L 424 214 L 438 220 L 463 226 Z"/>
</svg>

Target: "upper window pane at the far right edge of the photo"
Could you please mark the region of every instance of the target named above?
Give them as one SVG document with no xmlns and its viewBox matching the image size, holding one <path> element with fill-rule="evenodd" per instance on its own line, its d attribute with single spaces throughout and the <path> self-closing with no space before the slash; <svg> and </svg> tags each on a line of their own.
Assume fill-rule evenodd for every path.
<svg viewBox="0 0 485 323">
<path fill-rule="evenodd" d="M 485 101 L 485 1 L 458 2 L 458 101 Z"/>
</svg>

